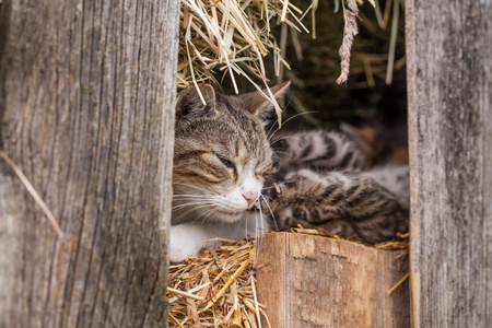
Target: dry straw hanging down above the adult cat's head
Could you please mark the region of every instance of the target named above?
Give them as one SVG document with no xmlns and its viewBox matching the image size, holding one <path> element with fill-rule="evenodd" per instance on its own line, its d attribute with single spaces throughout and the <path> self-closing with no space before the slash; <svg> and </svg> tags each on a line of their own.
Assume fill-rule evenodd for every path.
<svg viewBox="0 0 492 328">
<path fill-rule="evenodd" d="M 290 0 L 181 0 L 178 87 L 207 81 L 219 84 L 215 72 L 220 72 L 221 82 L 229 75 L 235 93 L 238 93 L 236 79 L 242 75 L 260 92 L 261 87 L 267 87 L 267 94 L 263 95 L 270 98 L 280 114 L 280 107 L 268 89 L 271 74 L 267 74 L 263 57 L 272 56 L 277 77 L 281 75 L 283 67 L 289 69 L 284 59 L 285 43 L 282 45 L 282 39 L 286 39 L 288 28 L 282 28 L 279 44 L 271 33 L 276 25 L 291 30 L 296 51 L 301 51 L 297 34 L 312 33 L 316 37 L 318 0 L 298 2 L 300 7 L 309 5 L 302 10 Z M 359 32 L 356 17 L 363 2 L 333 0 L 336 11 L 342 13 L 344 21 L 343 31 L 339 31 L 341 73 L 337 83 L 345 83 L 349 75 L 353 38 Z M 377 1 L 366 2 L 379 12 Z M 312 20 L 313 31 L 308 31 L 303 23 L 306 16 Z"/>
</svg>

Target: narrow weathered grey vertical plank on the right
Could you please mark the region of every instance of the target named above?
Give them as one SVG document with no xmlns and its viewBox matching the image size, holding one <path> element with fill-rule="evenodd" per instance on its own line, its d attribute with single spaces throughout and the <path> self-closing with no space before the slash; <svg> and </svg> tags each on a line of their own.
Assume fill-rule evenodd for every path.
<svg viewBox="0 0 492 328">
<path fill-rule="evenodd" d="M 491 17 L 406 2 L 413 327 L 492 327 Z"/>
</svg>

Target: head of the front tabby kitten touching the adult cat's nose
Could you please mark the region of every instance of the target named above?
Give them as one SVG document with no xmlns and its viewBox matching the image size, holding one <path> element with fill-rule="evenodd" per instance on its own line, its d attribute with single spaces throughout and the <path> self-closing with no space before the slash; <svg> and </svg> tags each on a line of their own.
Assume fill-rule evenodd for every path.
<svg viewBox="0 0 492 328">
<path fill-rule="evenodd" d="M 340 208 L 321 204 L 327 186 L 318 174 L 311 169 L 291 172 L 285 180 L 265 191 L 261 202 L 265 212 L 272 215 L 272 224 L 279 231 L 291 227 L 318 229 L 348 237 L 354 230 Z"/>
</svg>

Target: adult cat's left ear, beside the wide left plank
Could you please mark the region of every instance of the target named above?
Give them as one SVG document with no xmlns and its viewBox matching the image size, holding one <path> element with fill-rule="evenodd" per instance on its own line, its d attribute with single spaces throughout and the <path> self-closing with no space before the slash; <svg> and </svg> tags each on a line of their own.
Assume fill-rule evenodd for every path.
<svg viewBox="0 0 492 328">
<path fill-rule="evenodd" d="M 203 104 L 200 94 L 195 86 L 181 91 L 176 102 L 176 116 L 197 117 L 215 112 L 215 91 L 210 84 L 199 84 L 200 93 L 203 96 Z"/>
</svg>

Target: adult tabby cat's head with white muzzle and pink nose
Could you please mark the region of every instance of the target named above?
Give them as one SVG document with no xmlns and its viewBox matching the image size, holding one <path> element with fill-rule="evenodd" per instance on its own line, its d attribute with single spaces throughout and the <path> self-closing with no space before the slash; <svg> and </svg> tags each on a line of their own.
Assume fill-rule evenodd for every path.
<svg viewBox="0 0 492 328">
<path fill-rule="evenodd" d="M 276 97 L 290 82 L 271 87 Z M 176 104 L 173 223 L 235 222 L 260 196 L 272 153 L 263 119 L 273 106 L 259 92 L 225 96 L 209 84 Z"/>
</svg>

